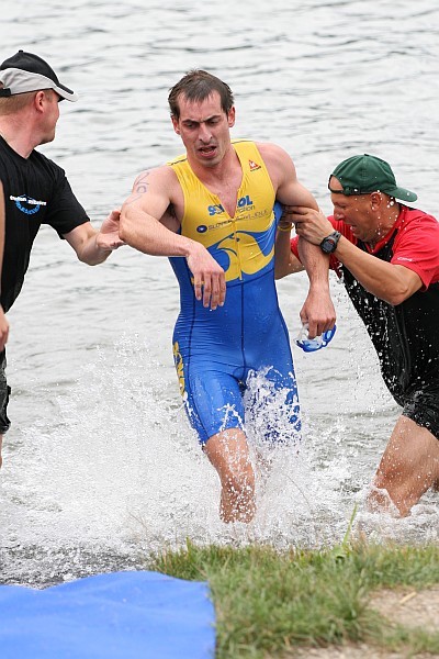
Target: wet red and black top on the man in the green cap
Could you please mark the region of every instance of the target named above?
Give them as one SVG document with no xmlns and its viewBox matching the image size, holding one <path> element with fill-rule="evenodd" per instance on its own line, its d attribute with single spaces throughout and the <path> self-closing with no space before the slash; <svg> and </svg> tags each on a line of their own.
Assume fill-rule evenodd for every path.
<svg viewBox="0 0 439 659">
<path fill-rule="evenodd" d="M 416 293 L 393 306 L 369 293 L 331 257 L 378 353 L 387 389 L 405 416 L 439 438 L 439 223 L 401 204 L 396 223 L 371 249 L 342 221 L 329 221 L 363 252 L 412 269 L 423 280 Z M 299 256 L 294 238 L 292 248 Z"/>
</svg>

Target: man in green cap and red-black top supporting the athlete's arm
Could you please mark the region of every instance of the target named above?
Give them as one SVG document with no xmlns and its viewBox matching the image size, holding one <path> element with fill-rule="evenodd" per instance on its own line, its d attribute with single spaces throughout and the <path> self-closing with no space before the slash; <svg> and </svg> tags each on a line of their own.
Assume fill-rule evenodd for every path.
<svg viewBox="0 0 439 659">
<path fill-rule="evenodd" d="M 329 178 L 334 215 L 288 209 L 291 245 L 280 232 L 277 277 L 301 269 L 297 243 L 329 254 L 376 349 L 384 381 L 403 413 L 383 455 L 370 503 L 402 515 L 439 485 L 439 223 L 396 186 L 384 160 L 344 160 Z"/>
</svg>

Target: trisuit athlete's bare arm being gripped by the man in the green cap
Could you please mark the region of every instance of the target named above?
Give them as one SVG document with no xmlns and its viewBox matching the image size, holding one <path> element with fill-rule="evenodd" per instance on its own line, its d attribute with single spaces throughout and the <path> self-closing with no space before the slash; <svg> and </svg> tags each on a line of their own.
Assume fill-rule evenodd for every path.
<svg viewBox="0 0 439 659">
<path fill-rule="evenodd" d="M 297 180 L 294 164 L 290 156 L 275 144 L 258 144 L 274 186 L 275 197 L 284 205 L 292 199 L 301 199 L 304 206 L 318 210 L 313 194 Z M 282 237 L 279 238 L 282 241 Z M 281 247 L 285 243 L 281 242 Z M 279 247 L 278 247 L 279 252 Z M 309 290 L 300 315 L 308 324 L 308 336 L 313 338 L 330 330 L 336 321 L 336 312 L 329 294 L 329 257 L 317 245 L 299 242 L 299 253 L 307 276 Z M 281 254 L 285 254 L 281 249 Z"/>
</svg>

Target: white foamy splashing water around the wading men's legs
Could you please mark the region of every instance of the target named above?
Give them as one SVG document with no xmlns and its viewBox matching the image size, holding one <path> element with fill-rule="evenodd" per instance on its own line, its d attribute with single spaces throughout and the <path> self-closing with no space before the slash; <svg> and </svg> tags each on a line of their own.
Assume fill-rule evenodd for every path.
<svg viewBox="0 0 439 659">
<path fill-rule="evenodd" d="M 251 383 L 254 392 L 266 386 L 258 378 Z M 46 583 L 50 576 L 139 565 L 187 538 L 279 549 L 334 546 L 356 506 L 352 534 L 378 541 L 438 537 L 434 496 L 403 521 L 365 511 L 368 470 L 360 465 L 361 480 L 352 479 L 361 446 L 344 442 L 352 439 L 352 420 L 337 413 L 323 431 L 307 413 L 303 439 L 274 447 L 260 440 L 260 416 L 249 418 L 255 463 L 259 456 L 270 469 L 257 468 L 254 522 L 223 524 L 219 481 L 189 426 L 173 368 L 156 361 L 137 336 L 98 348 L 56 403 L 53 426 L 25 428 L 9 457 L 13 468 L 2 474 L 2 546 L 12 551 L 5 573 L 14 581 Z M 284 423 L 286 436 L 291 426 L 279 409 L 273 395 L 263 422 Z"/>
</svg>

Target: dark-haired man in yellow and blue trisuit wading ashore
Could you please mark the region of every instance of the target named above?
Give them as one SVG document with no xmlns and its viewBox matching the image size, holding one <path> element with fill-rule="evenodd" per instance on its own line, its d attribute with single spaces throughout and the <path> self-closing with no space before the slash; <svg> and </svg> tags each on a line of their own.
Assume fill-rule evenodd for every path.
<svg viewBox="0 0 439 659">
<path fill-rule="evenodd" d="M 278 200 L 317 210 L 317 203 L 279 146 L 230 141 L 235 108 L 225 82 L 190 71 L 168 100 L 187 153 L 137 177 L 122 208 L 121 237 L 140 252 L 170 257 L 181 300 L 173 354 L 188 416 L 219 476 L 222 520 L 249 522 L 256 510 L 243 402 L 249 377 L 266 378 L 267 406 L 279 393 L 292 435 L 300 429 L 274 287 L 273 206 Z M 309 277 L 301 317 L 312 338 L 335 323 L 328 259 L 305 241 L 300 249 Z M 264 434 L 285 439 L 275 427 Z"/>
</svg>

